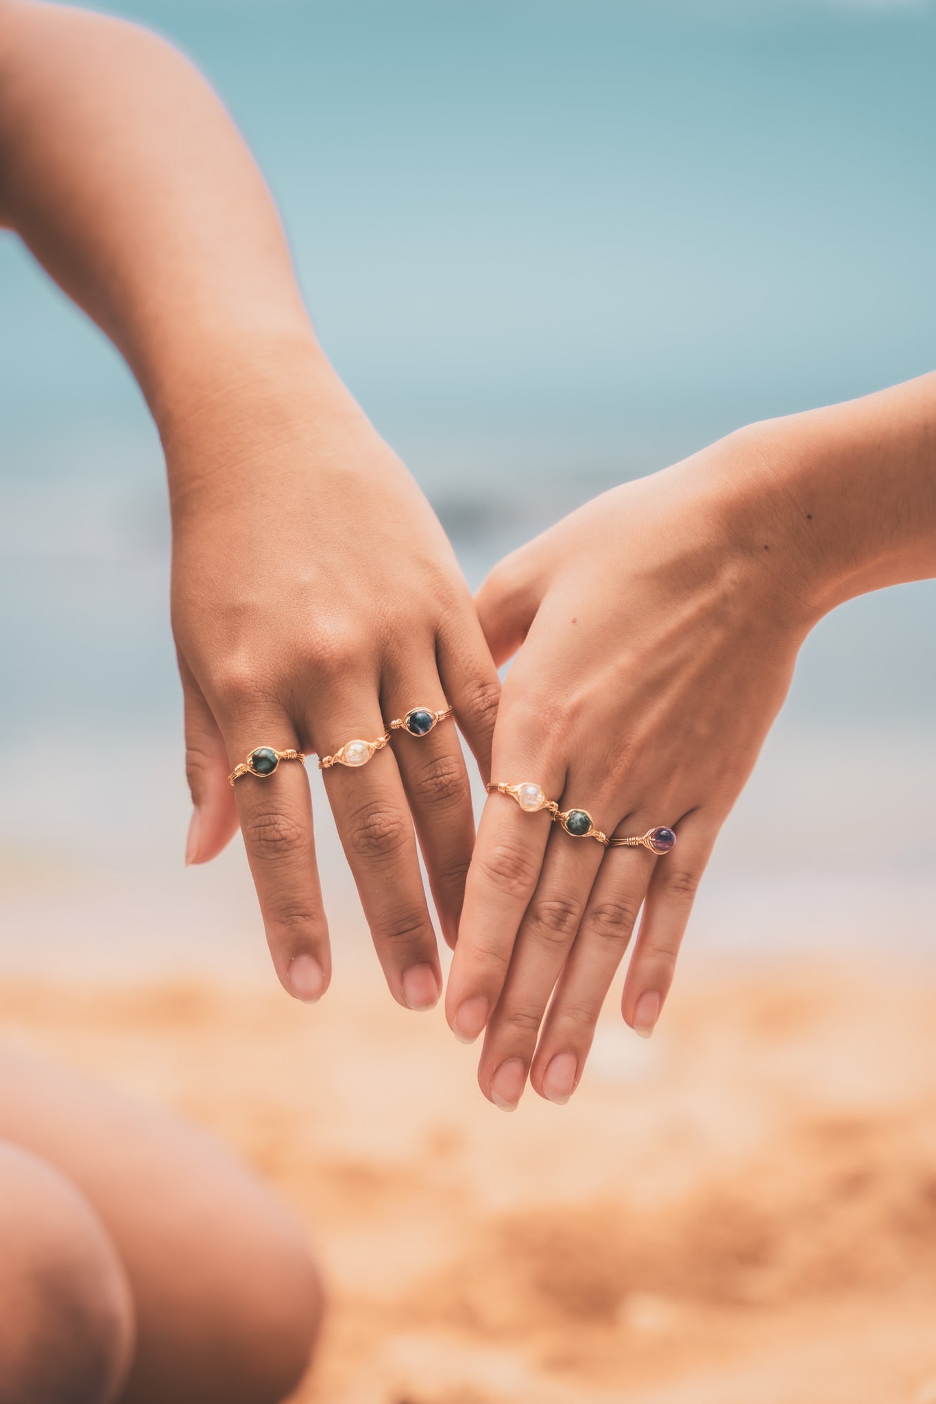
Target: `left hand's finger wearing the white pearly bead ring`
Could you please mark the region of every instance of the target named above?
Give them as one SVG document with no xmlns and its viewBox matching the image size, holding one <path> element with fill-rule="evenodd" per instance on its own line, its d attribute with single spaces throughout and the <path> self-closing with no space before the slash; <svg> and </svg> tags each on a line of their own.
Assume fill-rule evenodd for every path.
<svg viewBox="0 0 936 1404">
<path fill-rule="evenodd" d="M 309 722 L 321 757 L 355 739 L 376 741 L 383 730 L 376 687 L 321 698 Z M 439 953 L 393 751 L 387 744 L 363 765 L 333 765 L 324 779 L 390 993 L 408 1009 L 431 1009 L 442 991 Z"/>
</svg>

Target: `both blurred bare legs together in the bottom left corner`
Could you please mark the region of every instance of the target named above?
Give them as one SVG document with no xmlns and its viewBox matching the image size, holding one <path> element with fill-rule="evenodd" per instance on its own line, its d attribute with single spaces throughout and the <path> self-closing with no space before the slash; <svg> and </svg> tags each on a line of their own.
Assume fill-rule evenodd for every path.
<svg viewBox="0 0 936 1404">
<path fill-rule="evenodd" d="M 0 1045 L 0 1404 L 275 1404 L 321 1287 L 208 1136 Z"/>
</svg>

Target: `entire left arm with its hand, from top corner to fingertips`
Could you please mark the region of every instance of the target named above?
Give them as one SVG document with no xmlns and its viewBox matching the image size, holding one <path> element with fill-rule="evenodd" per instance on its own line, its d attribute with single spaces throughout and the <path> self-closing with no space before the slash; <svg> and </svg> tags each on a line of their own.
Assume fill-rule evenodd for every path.
<svg viewBox="0 0 936 1404">
<path fill-rule="evenodd" d="M 227 775 L 257 746 L 334 754 L 446 702 L 487 774 L 500 688 L 467 585 L 317 345 L 250 153 L 174 49 L 0 0 L 0 218 L 150 406 L 173 515 L 187 858 L 213 858 L 240 824 L 276 973 L 314 1001 L 331 963 L 307 779 L 295 761 L 233 789 Z M 387 984 L 429 1008 L 441 972 L 417 835 L 449 941 L 474 837 L 455 726 L 394 733 L 326 786 Z"/>
</svg>

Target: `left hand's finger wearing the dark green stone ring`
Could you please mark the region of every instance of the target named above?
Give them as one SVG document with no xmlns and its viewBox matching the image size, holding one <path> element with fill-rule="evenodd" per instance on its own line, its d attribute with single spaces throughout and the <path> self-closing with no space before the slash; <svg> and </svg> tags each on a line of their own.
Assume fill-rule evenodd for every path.
<svg viewBox="0 0 936 1404">
<path fill-rule="evenodd" d="M 299 744 L 283 713 L 260 702 L 241 705 L 225 736 L 232 768 L 255 747 L 285 751 Z M 297 1000 L 314 1002 L 328 987 L 331 952 L 309 778 L 299 761 L 281 761 L 271 775 L 241 775 L 234 797 L 276 974 Z"/>
</svg>

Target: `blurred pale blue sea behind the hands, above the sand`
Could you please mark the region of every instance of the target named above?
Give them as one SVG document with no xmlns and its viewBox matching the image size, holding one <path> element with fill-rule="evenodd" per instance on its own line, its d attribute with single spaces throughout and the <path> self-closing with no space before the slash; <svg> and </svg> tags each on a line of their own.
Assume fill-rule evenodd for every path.
<svg viewBox="0 0 936 1404">
<path fill-rule="evenodd" d="M 936 7 L 133 0 L 279 199 L 321 340 L 469 578 L 595 491 L 936 366 Z M 156 435 L 0 236 L 0 967 L 265 970 L 188 804 Z M 695 949 L 936 936 L 936 585 L 808 642 Z M 324 803 L 333 913 L 361 920 Z M 335 922 L 338 925 L 338 922 Z"/>
</svg>

